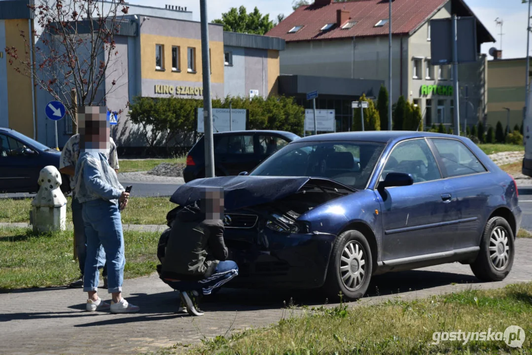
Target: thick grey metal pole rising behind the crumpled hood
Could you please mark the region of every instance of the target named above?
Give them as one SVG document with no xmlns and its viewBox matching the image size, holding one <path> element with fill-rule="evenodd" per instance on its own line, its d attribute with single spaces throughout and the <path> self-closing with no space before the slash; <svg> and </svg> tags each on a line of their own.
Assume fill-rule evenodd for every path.
<svg viewBox="0 0 532 355">
<path fill-rule="evenodd" d="M 203 127 L 205 132 L 205 177 L 214 177 L 214 145 L 212 136 L 211 63 L 209 55 L 209 22 L 207 0 L 200 0 L 201 54 L 203 63 Z"/>
</svg>

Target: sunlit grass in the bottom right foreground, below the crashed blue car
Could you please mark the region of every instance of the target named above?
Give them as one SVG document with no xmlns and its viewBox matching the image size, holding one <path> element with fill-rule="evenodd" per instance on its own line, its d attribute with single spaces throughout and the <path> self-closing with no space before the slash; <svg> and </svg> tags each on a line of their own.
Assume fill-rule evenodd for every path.
<svg viewBox="0 0 532 355">
<path fill-rule="evenodd" d="M 470 290 L 415 301 L 388 301 L 375 306 L 307 308 L 302 317 L 282 319 L 265 329 L 217 336 L 189 352 L 198 354 L 462 354 L 530 353 L 532 283 L 500 290 Z M 508 326 L 524 329 L 522 349 L 502 340 Z M 461 331 L 461 341 L 443 341 L 435 332 Z M 495 333 L 481 341 L 469 332 Z M 502 333 L 498 333 L 502 332 Z M 440 333 L 441 334 L 441 333 Z M 455 334 L 457 335 L 457 334 Z M 451 334 L 452 336 L 452 334 Z M 522 338 L 521 338 L 522 339 Z M 437 344 L 436 344 L 437 343 Z M 184 350 L 161 349 L 160 354 Z"/>
</svg>

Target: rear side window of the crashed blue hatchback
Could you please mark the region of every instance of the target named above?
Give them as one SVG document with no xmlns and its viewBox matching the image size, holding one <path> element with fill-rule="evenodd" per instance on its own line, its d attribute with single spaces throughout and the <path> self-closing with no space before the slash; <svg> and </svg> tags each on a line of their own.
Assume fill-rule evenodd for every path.
<svg viewBox="0 0 532 355">
<path fill-rule="evenodd" d="M 448 177 L 478 174 L 486 168 L 467 146 L 457 139 L 432 139 Z"/>
</svg>

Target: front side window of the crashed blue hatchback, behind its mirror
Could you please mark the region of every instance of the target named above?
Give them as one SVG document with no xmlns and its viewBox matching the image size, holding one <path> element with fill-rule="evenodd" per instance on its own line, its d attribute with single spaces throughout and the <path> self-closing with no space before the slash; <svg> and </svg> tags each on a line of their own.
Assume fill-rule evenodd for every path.
<svg viewBox="0 0 532 355">
<path fill-rule="evenodd" d="M 414 184 L 442 178 L 425 139 L 398 143 L 386 161 L 381 180 L 386 178 L 388 172 L 411 174 Z"/>
</svg>

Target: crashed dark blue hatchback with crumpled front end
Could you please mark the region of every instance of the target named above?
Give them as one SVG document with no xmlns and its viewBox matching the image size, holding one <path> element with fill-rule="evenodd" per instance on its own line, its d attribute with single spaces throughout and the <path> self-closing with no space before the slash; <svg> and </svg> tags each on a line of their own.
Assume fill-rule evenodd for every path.
<svg viewBox="0 0 532 355">
<path fill-rule="evenodd" d="M 190 204 L 203 186 L 225 188 L 231 287 L 323 287 L 353 300 L 372 275 L 456 261 L 502 280 L 521 223 L 513 178 L 468 138 L 443 134 L 301 138 L 249 176 L 192 181 L 171 201 Z"/>
</svg>

